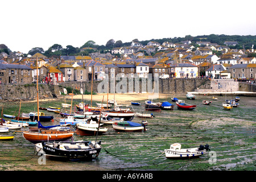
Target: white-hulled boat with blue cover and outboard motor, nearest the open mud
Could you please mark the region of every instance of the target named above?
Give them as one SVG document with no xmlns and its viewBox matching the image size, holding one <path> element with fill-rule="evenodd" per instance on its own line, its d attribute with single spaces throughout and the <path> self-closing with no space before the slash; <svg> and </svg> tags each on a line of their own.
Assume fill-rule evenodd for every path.
<svg viewBox="0 0 256 182">
<path fill-rule="evenodd" d="M 119 121 L 112 124 L 115 131 L 146 131 L 147 121 L 135 123 L 131 121 Z"/>
</svg>

